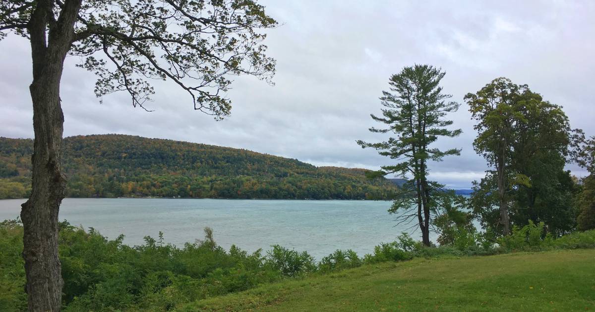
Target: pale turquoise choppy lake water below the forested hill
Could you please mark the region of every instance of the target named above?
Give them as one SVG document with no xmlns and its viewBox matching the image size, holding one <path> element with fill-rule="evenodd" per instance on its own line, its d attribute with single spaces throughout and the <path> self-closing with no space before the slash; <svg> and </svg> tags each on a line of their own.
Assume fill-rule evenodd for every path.
<svg viewBox="0 0 595 312">
<path fill-rule="evenodd" d="M 15 219 L 24 199 L 0 200 L 0 220 Z M 271 245 L 308 251 L 315 258 L 336 249 L 359 255 L 380 242 L 392 242 L 403 232 L 394 227 L 390 201 L 308 201 L 257 199 L 66 198 L 60 220 L 139 245 L 143 236 L 164 232 L 167 242 L 181 246 L 214 230 L 217 244 L 249 252 Z M 415 233 L 412 233 L 418 238 Z"/>
</svg>

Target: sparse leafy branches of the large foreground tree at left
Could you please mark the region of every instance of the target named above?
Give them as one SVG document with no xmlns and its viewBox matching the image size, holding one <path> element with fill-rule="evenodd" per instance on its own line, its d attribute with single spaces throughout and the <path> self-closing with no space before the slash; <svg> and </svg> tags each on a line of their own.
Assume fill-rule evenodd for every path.
<svg viewBox="0 0 595 312">
<path fill-rule="evenodd" d="M 230 113 L 225 96 L 230 76 L 248 74 L 271 82 L 275 61 L 265 55 L 266 34 L 258 29 L 276 25 L 251 0 L 0 4 L 0 30 L 29 38 L 40 53 L 52 48 L 52 40 L 68 39 L 68 54 L 82 57 L 79 66 L 98 76 L 96 96 L 126 91 L 134 106 L 146 108 L 154 93 L 151 80 L 171 80 L 189 94 L 195 110 L 217 117 Z M 0 39 L 6 35 L 0 32 Z"/>
</svg>

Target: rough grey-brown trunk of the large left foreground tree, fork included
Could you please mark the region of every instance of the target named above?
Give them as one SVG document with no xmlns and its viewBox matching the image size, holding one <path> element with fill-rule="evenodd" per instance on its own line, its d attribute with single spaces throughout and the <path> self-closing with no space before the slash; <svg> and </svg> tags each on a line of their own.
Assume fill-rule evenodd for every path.
<svg viewBox="0 0 595 312">
<path fill-rule="evenodd" d="M 66 0 L 54 20 L 54 1 L 39 0 L 27 25 L 33 61 L 29 91 L 35 141 L 31 196 L 22 205 L 21 220 L 29 311 L 61 308 L 64 283 L 58 257 L 58 210 L 66 179 L 61 172 L 64 115 L 60 80 L 80 4 L 81 0 Z"/>
</svg>

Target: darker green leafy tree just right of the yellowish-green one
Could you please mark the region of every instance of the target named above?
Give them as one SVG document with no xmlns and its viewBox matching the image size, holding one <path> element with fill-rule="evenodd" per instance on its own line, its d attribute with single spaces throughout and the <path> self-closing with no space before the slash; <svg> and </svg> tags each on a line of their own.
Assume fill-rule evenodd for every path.
<svg viewBox="0 0 595 312">
<path fill-rule="evenodd" d="M 549 233 L 562 236 L 576 226 L 579 189 L 564 168 L 576 130 L 571 129 L 562 107 L 544 101 L 537 93 L 524 99 L 521 109 L 527 122 L 515 129 L 512 167 L 528 183 L 519 183 L 512 192 L 511 222 L 518 226 L 528 220 L 544 222 Z"/>
</svg>

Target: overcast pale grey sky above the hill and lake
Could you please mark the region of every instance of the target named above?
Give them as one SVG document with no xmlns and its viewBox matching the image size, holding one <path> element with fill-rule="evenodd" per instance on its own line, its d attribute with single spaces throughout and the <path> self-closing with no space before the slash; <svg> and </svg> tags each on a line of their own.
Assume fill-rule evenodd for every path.
<svg viewBox="0 0 595 312">
<path fill-rule="evenodd" d="M 475 154 L 477 135 L 463 97 L 496 77 L 527 84 L 562 105 L 571 126 L 595 135 L 595 1 L 258 1 L 280 22 L 267 30 L 267 55 L 277 60 L 268 85 L 233 77 L 231 116 L 215 121 L 193 110 L 172 82 L 155 84 L 148 113 L 124 93 L 100 104 L 95 77 L 65 63 L 61 83 L 64 136 L 122 133 L 250 149 L 314 164 L 378 169 L 390 159 L 355 141 L 387 135 L 369 114 L 403 67 L 432 64 L 446 71 L 441 85 L 461 108 L 448 117 L 463 134 L 439 148 L 462 148 L 430 165 L 430 177 L 469 188 L 488 169 Z M 0 42 L 0 136 L 32 138 L 32 80 L 28 42 Z M 578 176 L 584 172 L 570 164 Z"/>
</svg>

